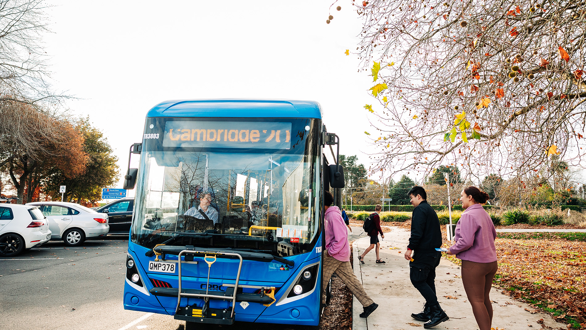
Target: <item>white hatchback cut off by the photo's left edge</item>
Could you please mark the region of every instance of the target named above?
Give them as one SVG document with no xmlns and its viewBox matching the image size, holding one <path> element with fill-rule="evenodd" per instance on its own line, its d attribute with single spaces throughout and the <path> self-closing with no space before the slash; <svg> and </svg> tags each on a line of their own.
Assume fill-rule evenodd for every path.
<svg viewBox="0 0 586 330">
<path fill-rule="evenodd" d="M 50 239 L 49 224 L 38 207 L 0 204 L 0 256 L 18 256 Z"/>
</svg>

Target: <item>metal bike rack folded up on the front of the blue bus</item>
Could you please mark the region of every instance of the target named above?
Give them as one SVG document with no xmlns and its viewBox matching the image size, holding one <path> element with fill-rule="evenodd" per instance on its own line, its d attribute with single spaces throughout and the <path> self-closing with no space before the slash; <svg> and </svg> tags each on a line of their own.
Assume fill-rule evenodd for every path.
<svg viewBox="0 0 586 330">
<path fill-rule="evenodd" d="M 189 293 L 183 292 L 182 288 L 182 278 L 181 278 L 181 265 L 183 261 L 181 260 L 181 256 L 187 254 L 203 254 L 203 260 L 207 263 L 207 285 L 206 285 L 206 293 L 199 294 L 199 293 Z M 236 275 L 236 282 L 234 283 L 234 291 L 232 295 L 215 295 L 209 294 L 209 283 L 210 283 L 210 269 L 212 268 L 212 264 L 216 262 L 216 258 L 223 258 L 223 257 L 238 257 L 240 263 L 238 265 L 238 274 Z M 178 270 L 179 270 L 179 290 L 177 296 L 177 307 L 175 309 L 175 319 L 182 319 L 183 321 L 195 321 L 199 320 L 202 323 L 213 323 L 213 324 L 233 324 L 234 323 L 234 309 L 236 308 L 236 292 L 238 291 L 238 281 L 240 280 L 240 271 L 242 270 L 242 256 L 239 253 L 230 253 L 230 252 L 212 252 L 212 251 L 198 251 L 198 250 L 183 250 L 178 254 Z M 193 306 L 186 306 L 180 307 L 180 302 L 182 297 L 197 297 L 203 298 L 205 301 L 203 304 L 202 309 Z M 231 300 L 232 301 L 232 310 L 230 312 L 230 317 L 221 317 L 221 315 L 217 315 L 219 311 L 213 313 L 212 309 L 209 308 L 209 299 L 221 299 L 221 300 Z M 191 312 L 191 313 L 189 313 Z M 207 315 L 207 313 L 210 315 Z M 222 314 L 226 313 L 226 309 L 222 310 Z"/>
</svg>

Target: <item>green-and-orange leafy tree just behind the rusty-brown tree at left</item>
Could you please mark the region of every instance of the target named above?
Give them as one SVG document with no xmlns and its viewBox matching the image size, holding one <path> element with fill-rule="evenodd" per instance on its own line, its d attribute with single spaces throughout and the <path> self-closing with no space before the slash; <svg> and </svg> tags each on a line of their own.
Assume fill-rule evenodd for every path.
<svg viewBox="0 0 586 330">
<path fill-rule="evenodd" d="M 59 186 L 64 185 L 64 200 L 95 203 L 101 199 L 102 188 L 117 181 L 118 158 L 112 155 L 113 149 L 103 132 L 91 127 L 89 118 L 81 119 L 76 130 L 83 136 L 81 151 L 87 155 L 84 171 L 71 176 L 69 169 L 53 167 L 47 171 L 43 190 L 53 199 L 60 199 Z"/>
</svg>

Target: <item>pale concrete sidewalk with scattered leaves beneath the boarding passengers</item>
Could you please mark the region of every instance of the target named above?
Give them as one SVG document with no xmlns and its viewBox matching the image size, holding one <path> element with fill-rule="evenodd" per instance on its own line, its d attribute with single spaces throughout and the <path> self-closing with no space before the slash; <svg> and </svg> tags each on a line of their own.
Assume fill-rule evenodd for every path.
<svg viewBox="0 0 586 330">
<path fill-rule="evenodd" d="M 358 233 L 362 228 L 353 227 L 353 232 Z M 411 313 L 421 312 L 425 300 L 419 291 L 415 290 L 409 280 L 409 263 L 403 257 L 410 233 L 407 230 L 393 228 L 390 233 L 385 233 L 385 239 L 380 244 L 380 257 L 385 264 L 375 263 L 374 249 L 364 257 L 364 264 L 360 264 L 357 256 L 370 245 L 368 237 L 362 237 L 352 244 L 353 264 L 356 277 L 364 286 L 370 298 L 379 304 L 379 308 L 364 319 L 360 318 L 362 305 L 354 298 L 353 301 L 353 330 L 393 329 L 405 330 L 421 326 L 423 323 L 411 318 Z M 379 237 L 380 239 L 380 237 Z M 436 268 L 435 287 L 438 300 L 442 308 L 450 317 L 449 321 L 442 322 L 433 329 L 478 329 L 472 307 L 470 306 L 464 285 L 460 278 L 461 272 L 458 266 L 448 260 L 442 259 L 440 266 Z M 447 298 L 454 297 L 453 298 Z M 516 301 L 507 295 L 501 294 L 501 290 L 492 288 L 490 298 L 493 301 L 494 316 L 493 328 L 516 329 L 541 329 L 539 319 L 543 324 L 551 328 L 564 328 L 565 324 L 554 321 L 547 314 L 531 314 L 534 308 L 523 302 Z M 526 311 L 525 309 L 529 309 Z"/>
</svg>

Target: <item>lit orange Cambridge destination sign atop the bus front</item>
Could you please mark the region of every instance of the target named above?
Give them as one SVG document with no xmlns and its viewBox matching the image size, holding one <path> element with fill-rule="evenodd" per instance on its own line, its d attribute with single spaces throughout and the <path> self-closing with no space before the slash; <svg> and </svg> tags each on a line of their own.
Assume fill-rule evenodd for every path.
<svg viewBox="0 0 586 330">
<path fill-rule="evenodd" d="M 163 147 L 290 149 L 291 123 L 168 121 Z"/>
</svg>

